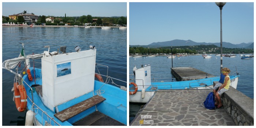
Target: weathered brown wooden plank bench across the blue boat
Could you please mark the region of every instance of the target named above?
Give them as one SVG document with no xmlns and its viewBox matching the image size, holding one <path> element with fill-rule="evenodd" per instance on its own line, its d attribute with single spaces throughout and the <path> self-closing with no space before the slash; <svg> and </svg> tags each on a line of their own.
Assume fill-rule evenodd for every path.
<svg viewBox="0 0 256 128">
<path fill-rule="evenodd" d="M 76 105 L 73 105 L 67 109 L 62 110 L 61 112 L 54 114 L 54 116 L 57 117 L 61 122 L 64 122 L 69 118 L 72 118 L 77 114 L 83 112 L 84 110 L 87 110 L 92 106 L 97 105 L 105 99 L 106 98 L 100 97 L 99 95 L 95 95 L 89 99 L 86 99 L 85 101 L 82 101 Z"/>
</svg>

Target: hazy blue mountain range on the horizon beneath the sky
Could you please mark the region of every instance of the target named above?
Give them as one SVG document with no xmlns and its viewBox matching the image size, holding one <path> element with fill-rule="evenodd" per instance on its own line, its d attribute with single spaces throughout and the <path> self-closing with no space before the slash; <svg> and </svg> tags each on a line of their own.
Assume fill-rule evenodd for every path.
<svg viewBox="0 0 256 128">
<path fill-rule="evenodd" d="M 147 46 L 150 47 L 164 47 L 164 46 L 195 46 L 195 45 L 216 45 L 218 47 L 221 46 L 221 43 L 206 43 L 206 42 L 194 42 L 192 40 L 181 40 L 181 39 L 174 39 L 172 41 L 165 41 L 165 42 L 154 42 Z M 248 43 L 241 43 L 241 44 L 231 44 L 229 42 L 222 42 L 222 47 L 225 48 L 245 48 L 245 49 L 253 49 L 254 42 Z"/>
</svg>

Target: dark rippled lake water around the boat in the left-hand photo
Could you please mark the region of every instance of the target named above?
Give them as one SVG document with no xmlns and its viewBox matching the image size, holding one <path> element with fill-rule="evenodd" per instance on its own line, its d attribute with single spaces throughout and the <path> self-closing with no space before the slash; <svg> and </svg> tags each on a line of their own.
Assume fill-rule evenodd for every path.
<svg viewBox="0 0 256 128">
<path fill-rule="evenodd" d="M 96 63 L 109 67 L 108 76 L 127 81 L 127 30 L 82 27 L 3 27 L 2 29 L 3 61 L 18 57 L 22 43 L 25 44 L 26 54 L 43 53 L 44 50 L 48 50 L 44 46 L 50 46 L 50 52 L 57 51 L 60 46 L 67 46 L 67 52 L 75 52 L 75 46 L 88 50 L 89 45 L 95 45 Z M 41 59 L 35 61 L 41 62 Z M 41 64 L 36 63 L 35 67 L 39 65 Z M 106 71 L 102 71 L 106 69 L 105 67 L 97 67 L 101 74 L 106 75 Z M 5 69 L 2 71 L 3 125 L 25 125 L 26 113 L 18 112 L 12 101 L 14 75 Z M 106 79 L 103 77 L 103 80 Z M 126 86 L 124 82 L 116 80 L 114 82 Z"/>
</svg>

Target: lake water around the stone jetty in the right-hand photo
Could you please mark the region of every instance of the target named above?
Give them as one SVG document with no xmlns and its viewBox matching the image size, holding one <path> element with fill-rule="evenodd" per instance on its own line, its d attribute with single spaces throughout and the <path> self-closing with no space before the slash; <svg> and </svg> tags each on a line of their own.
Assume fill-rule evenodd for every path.
<svg viewBox="0 0 256 128">
<path fill-rule="evenodd" d="M 245 54 L 244 54 L 245 55 Z M 173 59 L 173 67 L 192 67 L 199 69 L 201 71 L 207 72 L 208 74 L 213 74 L 219 76 L 221 61 L 220 56 L 212 56 L 210 59 L 204 59 L 202 56 L 182 56 Z M 230 69 L 231 73 L 236 71 L 239 73 L 237 90 L 241 91 L 243 94 L 250 98 L 254 98 L 253 91 L 253 61 L 254 58 L 244 60 L 241 59 L 239 55 L 237 57 L 223 57 L 223 68 L 227 67 Z M 133 67 L 136 65 L 137 69 L 141 65 L 150 64 L 151 65 L 151 75 L 154 74 L 154 78 L 174 78 L 171 74 L 172 59 L 167 59 L 166 56 L 156 56 L 156 57 L 142 57 L 133 58 L 129 57 L 129 74 L 133 74 Z M 134 78 L 134 76 L 133 76 Z M 129 116 L 130 121 L 133 116 L 139 111 L 141 103 L 130 103 L 129 105 Z"/>
</svg>

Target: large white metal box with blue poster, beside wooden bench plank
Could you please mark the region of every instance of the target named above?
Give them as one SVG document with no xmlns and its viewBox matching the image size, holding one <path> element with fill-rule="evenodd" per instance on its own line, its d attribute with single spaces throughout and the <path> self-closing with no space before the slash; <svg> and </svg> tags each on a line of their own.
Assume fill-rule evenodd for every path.
<svg viewBox="0 0 256 128">
<path fill-rule="evenodd" d="M 54 107 L 94 89 L 96 49 L 42 57 L 44 104 Z"/>
</svg>

